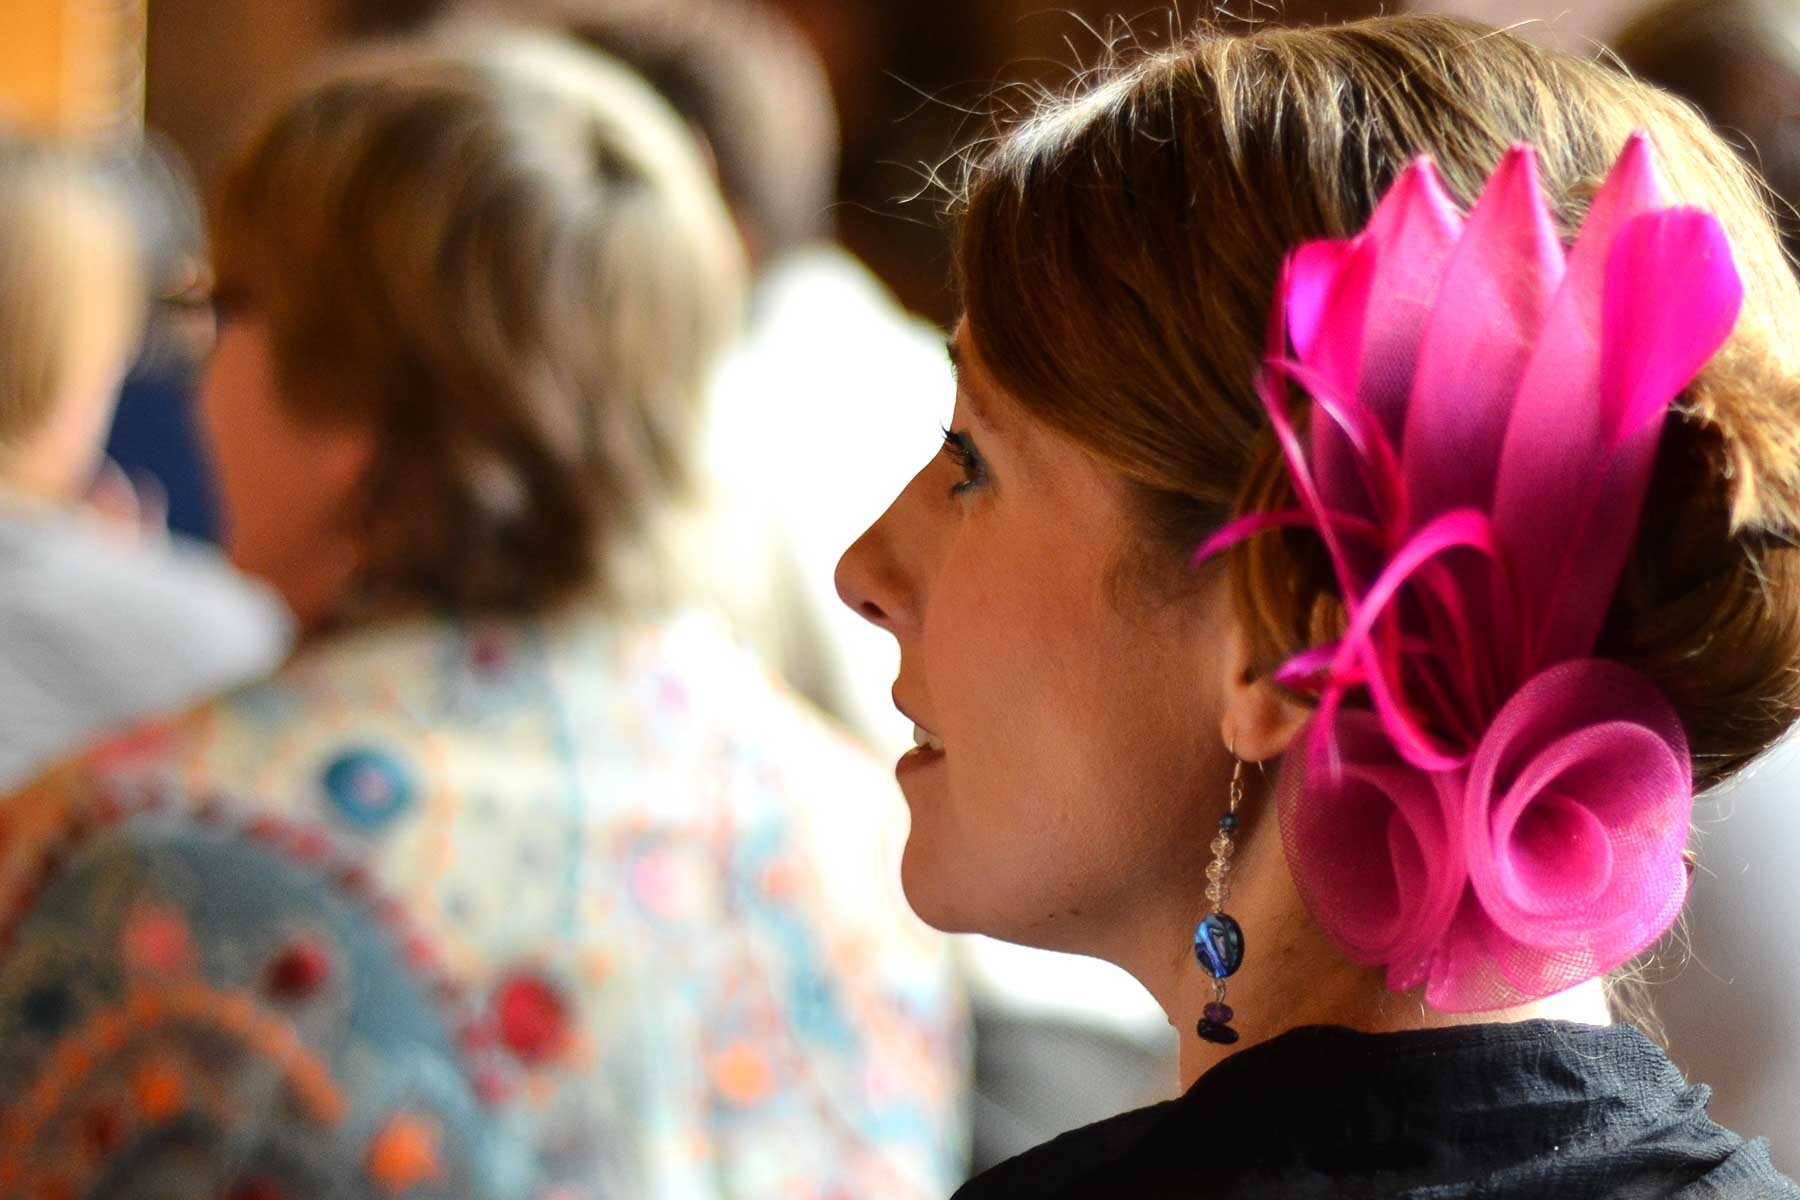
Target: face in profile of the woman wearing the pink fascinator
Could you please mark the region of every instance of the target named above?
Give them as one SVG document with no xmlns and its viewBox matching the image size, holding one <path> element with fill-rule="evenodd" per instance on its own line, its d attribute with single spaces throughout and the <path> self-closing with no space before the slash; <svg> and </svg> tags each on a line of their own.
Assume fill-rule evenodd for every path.
<svg viewBox="0 0 1800 1200">
<path fill-rule="evenodd" d="M 1154 596 L 1118 477 L 999 390 L 967 324 L 954 349 L 945 450 L 837 570 L 900 642 L 895 703 L 927 743 L 898 766 L 902 880 L 940 928 L 1093 952 L 1143 896 L 1195 891 L 1229 604 L 1222 576 Z"/>
</svg>

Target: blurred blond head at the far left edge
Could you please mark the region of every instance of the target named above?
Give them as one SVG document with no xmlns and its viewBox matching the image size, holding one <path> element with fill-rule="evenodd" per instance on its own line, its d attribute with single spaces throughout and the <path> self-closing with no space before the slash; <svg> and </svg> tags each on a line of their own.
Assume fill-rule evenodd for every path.
<svg viewBox="0 0 1800 1200">
<path fill-rule="evenodd" d="M 0 133 L 0 480 L 56 504 L 99 466 L 144 318 L 121 191 L 68 149 Z"/>
</svg>

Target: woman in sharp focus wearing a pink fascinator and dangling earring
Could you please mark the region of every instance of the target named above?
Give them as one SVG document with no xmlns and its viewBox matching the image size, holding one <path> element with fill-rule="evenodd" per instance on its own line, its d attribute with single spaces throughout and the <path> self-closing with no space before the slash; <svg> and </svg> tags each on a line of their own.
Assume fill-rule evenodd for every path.
<svg viewBox="0 0 1800 1200">
<path fill-rule="evenodd" d="M 958 1195 L 1800 1195 L 1607 997 L 1800 712 L 1732 151 L 1462 22 L 1202 31 L 983 153 L 958 264 L 943 455 L 839 569 L 904 885 L 1130 970 L 1186 1087 Z"/>
</svg>

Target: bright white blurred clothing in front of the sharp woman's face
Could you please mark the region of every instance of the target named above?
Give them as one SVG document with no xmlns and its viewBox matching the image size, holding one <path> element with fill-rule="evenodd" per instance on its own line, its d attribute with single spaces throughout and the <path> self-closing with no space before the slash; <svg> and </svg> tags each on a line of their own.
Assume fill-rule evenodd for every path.
<svg viewBox="0 0 1800 1200">
<path fill-rule="evenodd" d="M 938 452 L 954 396 L 943 333 L 832 245 L 763 273 L 713 392 L 729 606 L 801 694 L 884 756 L 913 745 L 889 696 L 900 655 L 844 608 L 832 574 Z"/>
</svg>

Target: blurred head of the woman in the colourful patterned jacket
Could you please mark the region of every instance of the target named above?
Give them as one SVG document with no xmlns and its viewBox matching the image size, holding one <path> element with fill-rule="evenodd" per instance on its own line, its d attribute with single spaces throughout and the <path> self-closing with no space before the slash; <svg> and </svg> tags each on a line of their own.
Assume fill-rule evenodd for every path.
<svg viewBox="0 0 1800 1200">
<path fill-rule="evenodd" d="M 634 76 L 504 31 L 338 61 L 232 162 L 214 246 L 227 547 L 302 624 L 666 592 L 743 264 Z"/>
</svg>

